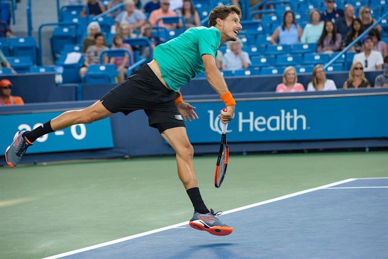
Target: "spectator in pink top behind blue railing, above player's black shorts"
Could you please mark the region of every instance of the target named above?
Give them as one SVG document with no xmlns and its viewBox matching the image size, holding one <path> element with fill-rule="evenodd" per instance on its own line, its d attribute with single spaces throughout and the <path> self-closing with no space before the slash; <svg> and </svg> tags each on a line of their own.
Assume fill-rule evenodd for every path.
<svg viewBox="0 0 388 259">
<path fill-rule="evenodd" d="M 119 72 L 119 80 L 120 82 L 122 82 L 124 81 L 125 75 L 127 74 L 129 61 L 130 64 L 134 63 L 133 50 L 129 44 L 124 43 L 124 39 L 120 34 L 115 34 L 113 36 L 112 49 L 127 49 L 130 53 L 130 59 L 128 57 L 128 54 L 126 54 L 124 57 L 113 57 L 110 60 L 110 63 L 116 66 L 116 69 Z"/>
</svg>

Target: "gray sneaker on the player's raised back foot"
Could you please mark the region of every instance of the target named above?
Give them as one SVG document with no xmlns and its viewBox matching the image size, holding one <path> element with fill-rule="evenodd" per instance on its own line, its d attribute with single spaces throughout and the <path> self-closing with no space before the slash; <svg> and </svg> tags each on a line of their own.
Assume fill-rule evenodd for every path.
<svg viewBox="0 0 388 259">
<path fill-rule="evenodd" d="M 26 153 L 27 147 L 32 146 L 32 142 L 23 137 L 23 134 L 26 132 L 28 131 L 17 131 L 14 142 L 5 149 L 5 161 L 11 167 L 15 167 L 20 162 L 24 153 Z"/>
</svg>

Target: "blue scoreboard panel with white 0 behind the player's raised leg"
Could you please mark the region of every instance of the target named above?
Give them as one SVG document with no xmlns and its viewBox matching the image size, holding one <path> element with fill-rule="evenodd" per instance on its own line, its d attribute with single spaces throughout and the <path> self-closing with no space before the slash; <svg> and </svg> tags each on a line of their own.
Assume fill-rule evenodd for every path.
<svg viewBox="0 0 388 259">
<path fill-rule="evenodd" d="M 25 113 L 0 115 L 0 150 L 3 152 L 12 142 L 18 130 L 31 130 L 61 113 Z M 77 124 L 38 138 L 27 154 L 70 150 L 86 150 L 113 147 L 110 118 L 92 124 Z"/>
</svg>

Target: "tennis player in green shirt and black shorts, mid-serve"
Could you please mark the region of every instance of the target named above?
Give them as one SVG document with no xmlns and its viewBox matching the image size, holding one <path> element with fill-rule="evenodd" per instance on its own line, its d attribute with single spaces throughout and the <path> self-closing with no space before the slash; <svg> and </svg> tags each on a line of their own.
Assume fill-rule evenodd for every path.
<svg viewBox="0 0 388 259">
<path fill-rule="evenodd" d="M 216 67 L 218 47 L 226 41 L 237 40 L 242 29 L 241 10 L 234 6 L 217 6 L 209 15 L 209 27 L 190 28 L 154 51 L 154 59 L 134 71 L 125 81 L 115 86 L 100 100 L 82 109 L 67 111 L 32 131 L 17 132 L 13 143 L 5 151 L 7 163 L 15 167 L 33 142 L 50 132 L 74 124 L 92 123 L 113 113 L 129 114 L 144 110 L 149 126 L 159 130 L 162 137 L 176 151 L 178 176 L 193 206 L 190 226 L 213 235 L 228 235 L 233 227 L 223 224 L 202 200 L 194 171 L 194 150 L 190 144 L 184 121 L 198 115 L 195 107 L 183 101 L 179 92 L 182 85 L 205 71 L 210 86 L 220 95 L 227 112 L 218 115 L 229 122 L 235 111 L 235 100 Z"/>
</svg>

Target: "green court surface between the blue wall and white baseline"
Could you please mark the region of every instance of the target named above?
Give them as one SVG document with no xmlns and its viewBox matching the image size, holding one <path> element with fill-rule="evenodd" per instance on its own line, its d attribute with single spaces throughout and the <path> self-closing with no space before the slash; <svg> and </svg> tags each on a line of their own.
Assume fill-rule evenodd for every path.
<svg viewBox="0 0 388 259">
<path fill-rule="evenodd" d="M 216 211 L 347 178 L 388 176 L 387 151 L 232 154 L 216 189 L 215 162 L 216 155 L 194 158 L 204 201 Z M 48 257 L 192 215 L 174 157 L 0 167 L 1 259 Z M 193 238 L 198 233 L 193 229 Z"/>
</svg>

